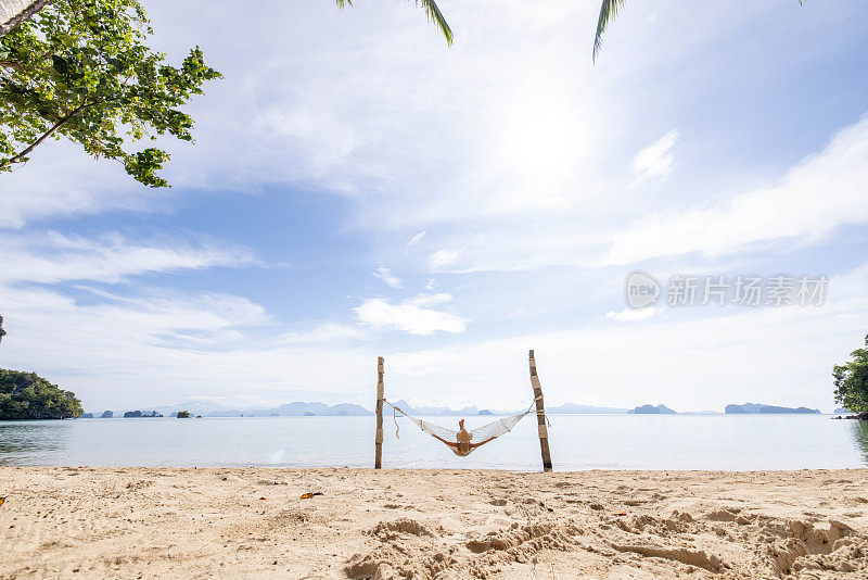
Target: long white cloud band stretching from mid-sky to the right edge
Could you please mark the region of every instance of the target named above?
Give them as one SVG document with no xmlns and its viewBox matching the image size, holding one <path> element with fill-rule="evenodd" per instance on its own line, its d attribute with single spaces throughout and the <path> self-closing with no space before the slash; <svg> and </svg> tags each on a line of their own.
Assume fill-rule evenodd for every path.
<svg viewBox="0 0 868 580">
<path fill-rule="evenodd" d="M 764 173 L 762 185 L 752 178 L 735 196 L 710 184 L 710 193 L 702 192 L 701 199 L 720 201 L 693 206 L 668 198 L 626 203 L 613 192 L 611 200 L 586 212 L 552 212 L 533 222 L 474 222 L 470 231 L 459 228 L 436 240 L 447 249 L 431 254 L 426 266 L 451 273 L 597 268 L 694 253 L 705 261 L 728 254 L 745 260 L 752 257 L 745 250 L 762 254 L 769 247 L 825 242 L 840 226 L 868 222 L 861 187 L 868 182 L 868 117 L 844 127 L 792 166 Z"/>
</svg>

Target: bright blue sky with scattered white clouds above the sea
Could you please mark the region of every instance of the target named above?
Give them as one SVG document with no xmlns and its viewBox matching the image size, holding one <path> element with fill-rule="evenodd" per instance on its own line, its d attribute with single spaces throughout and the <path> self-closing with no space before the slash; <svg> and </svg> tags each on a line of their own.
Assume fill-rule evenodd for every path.
<svg viewBox="0 0 868 580">
<path fill-rule="evenodd" d="M 452 47 L 412 2 L 143 4 L 225 78 L 171 189 L 64 141 L 0 174 L 0 366 L 88 411 L 372 408 L 384 356 L 388 399 L 514 409 L 535 349 L 547 405 L 834 407 L 868 333 L 868 1 L 630 1 L 596 64 L 597 0 L 443 0 Z M 821 297 L 766 303 L 803 276 Z"/>
</svg>

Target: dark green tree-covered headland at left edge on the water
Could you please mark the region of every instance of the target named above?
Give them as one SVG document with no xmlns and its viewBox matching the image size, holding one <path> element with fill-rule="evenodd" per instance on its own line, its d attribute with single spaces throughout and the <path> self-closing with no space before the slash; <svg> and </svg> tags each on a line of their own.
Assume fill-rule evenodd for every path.
<svg viewBox="0 0 868 580">
<path fill-rule="evenodd" d="M 36 373 L 0 368 L 0 419 L 68 419 L 81 415 L 81 402 Z"/>
</svg>

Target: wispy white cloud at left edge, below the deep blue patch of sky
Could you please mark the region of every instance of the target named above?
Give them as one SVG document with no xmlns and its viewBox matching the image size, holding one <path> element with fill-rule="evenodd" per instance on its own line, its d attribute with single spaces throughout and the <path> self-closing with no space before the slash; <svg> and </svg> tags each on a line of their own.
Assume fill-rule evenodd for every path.
<svg viewBox="0 0 868 580">
<path fill-rule="evenodd" d="M 242 297 L 145 289 L 128 298 L 79 289 L 90 290 L 99 302 L 79 302 L 41 288 L 0 286 L 13 337 L 3 343 L 7 355 L 25 367 L 31 364 L 27 361 L 39 361 L 40 368 L 73 374 L 99 374 L 123 361 L 133 374 L 142 371 L 137 363 L 156 356 L 159 349 L 167 349 L 161 356 L 170 357 L 176 349 L 231 348 L 245 328 L 270 323 L 261 305 Z"/>
</svg>

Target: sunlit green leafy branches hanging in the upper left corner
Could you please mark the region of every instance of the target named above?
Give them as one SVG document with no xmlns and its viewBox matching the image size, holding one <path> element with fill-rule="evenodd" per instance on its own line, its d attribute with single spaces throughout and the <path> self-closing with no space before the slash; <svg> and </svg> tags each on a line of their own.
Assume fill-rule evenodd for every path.
<svg viewBox="0 0 868 580">
<path fill-rule="evenodd" d="M 65 137 L 146 186 L 167 187 L 156 173 L 166 151 L 129 150 L 163 135 L 192 141 L 193 119 L 180 108 L 221 75 L 199 47 L 180 66 L 167 64 L 145 45 L 151 34 L 137 0 L 56 0 L 0 38 L 0 172 Z"/>
</svg>

